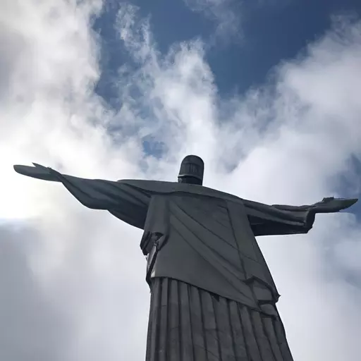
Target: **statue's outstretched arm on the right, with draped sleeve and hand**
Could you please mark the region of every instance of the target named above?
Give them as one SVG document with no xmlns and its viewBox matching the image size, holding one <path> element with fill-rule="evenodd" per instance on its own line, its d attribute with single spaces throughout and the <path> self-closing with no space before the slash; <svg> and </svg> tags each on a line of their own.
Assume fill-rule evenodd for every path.
<svg viewBox="0 0 361 361">
<path fill-rule="evenodd" d="M 329 197 L 310 205 L 289 206 L 243 200 L 250 226 L 255 235 L 307 233 L 312 228 L 317 213 L 339 212 L 356 202 L 357 199 Z"/>
</svg>

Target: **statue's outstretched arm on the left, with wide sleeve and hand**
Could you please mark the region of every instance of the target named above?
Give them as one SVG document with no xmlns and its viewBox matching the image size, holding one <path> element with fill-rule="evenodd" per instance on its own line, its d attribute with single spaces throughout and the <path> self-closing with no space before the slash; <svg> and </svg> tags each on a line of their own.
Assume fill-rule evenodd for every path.
<svg viewBox="0 0 361 361">
<path fill-rule="evenodd" d="M 35 164 L 35 167 L 14 166 L 14 169 L 32 178 L 61 182 L 85 207 L 106 209 L 132 226 L 144 226 L 151 197 L 145 190 L 127 183 L 68 176 L 39 164 Z"/>
</svg>

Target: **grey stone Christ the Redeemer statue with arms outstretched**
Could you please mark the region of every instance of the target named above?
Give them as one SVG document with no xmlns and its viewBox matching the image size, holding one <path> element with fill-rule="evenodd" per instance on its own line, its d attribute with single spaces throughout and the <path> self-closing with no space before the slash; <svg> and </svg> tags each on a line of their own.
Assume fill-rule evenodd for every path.
<svg viewBox="0 0 361 361">
<path fill-rule="evenodd" d="M 144 230 L 151 290 L 147 361 L 291 361 L 279 293 L 255 236 L 307 233 L 317 213 L 357 200 L 267 205 L 202 186 L 204 164 L 183 159 L 176 182 L 104 181 L 34 164 L 25 176 L 61 182 L 85 207 Z"/>
</svg>

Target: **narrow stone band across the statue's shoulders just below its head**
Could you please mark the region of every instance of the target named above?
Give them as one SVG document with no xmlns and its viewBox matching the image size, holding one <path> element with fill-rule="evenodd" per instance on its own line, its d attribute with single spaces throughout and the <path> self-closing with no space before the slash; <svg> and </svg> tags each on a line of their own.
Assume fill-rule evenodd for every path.
<svg viewBox="0 0 361 361">
<path fill-rule="evenodd" d="M 165 181 L 147 181 L 141 179 L 122 179 L 118 181 L 125 183 L 135 188 L 151 192 L 153 194 L 175 194 L 175 193 L 188 193 L 189 195 L 200 195 L 214 198 L 221 198 L 233 202 L 241 202 L 242 200 L 226 192 L 221 192 L 213 188 L 207 188 L 203 185 L 186 184 L 178 182 L 165 182 Z"/>
</svg>

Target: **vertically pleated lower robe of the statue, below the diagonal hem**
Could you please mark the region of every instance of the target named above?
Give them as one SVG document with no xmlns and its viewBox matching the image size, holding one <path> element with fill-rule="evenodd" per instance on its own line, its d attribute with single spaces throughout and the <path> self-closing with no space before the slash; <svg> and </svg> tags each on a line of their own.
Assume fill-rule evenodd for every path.
<svg viewBox="0 0 361 361">
<path fill-rule="evenodd" d="M 146 361 L 292 361 L 274 305 L 258 312 L 175 279 L 155 278 Z"/>
</svg>

